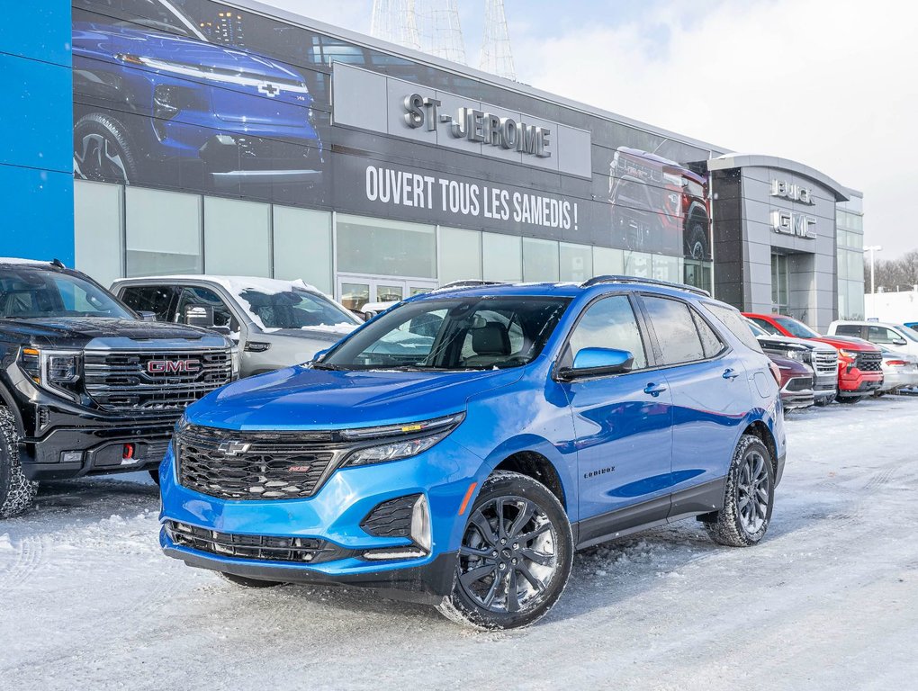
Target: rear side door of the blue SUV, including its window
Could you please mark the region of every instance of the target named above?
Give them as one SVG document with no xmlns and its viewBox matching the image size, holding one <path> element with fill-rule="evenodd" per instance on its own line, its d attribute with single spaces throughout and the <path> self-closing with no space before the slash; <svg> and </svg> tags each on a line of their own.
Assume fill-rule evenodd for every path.
<svg viewBox="0 0 918 691">
<path fill-rule="evenodd" d="M 720 501 L 738 426 L 749 410 L 749 384 L 741 357 L 688 302 L 642 295 L 673 406 L 674 506 L 670 517 Z"/>
</svg>

